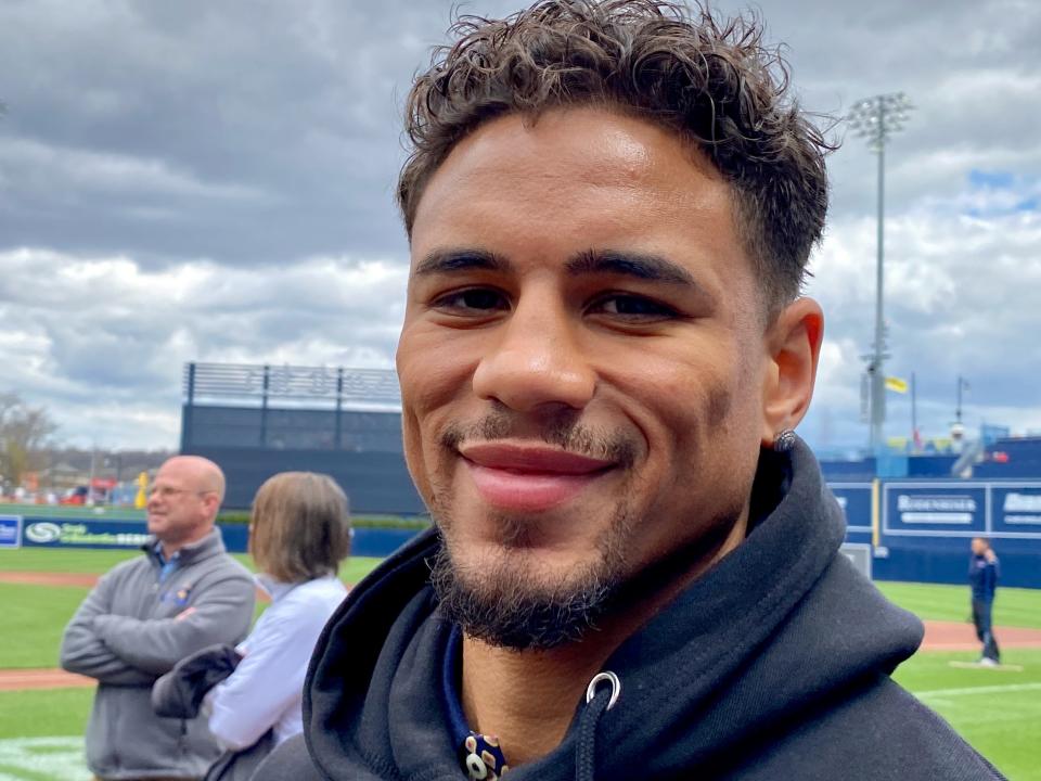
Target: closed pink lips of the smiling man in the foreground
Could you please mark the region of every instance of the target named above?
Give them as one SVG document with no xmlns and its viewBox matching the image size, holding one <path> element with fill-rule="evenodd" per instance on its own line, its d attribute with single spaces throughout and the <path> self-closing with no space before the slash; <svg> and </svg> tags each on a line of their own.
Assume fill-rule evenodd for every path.
<svg viewBox="0 0 1041 781">
<path fill-rule="evenodd" d="M 563 504 L 615 466 L 541 445 L 480 443 L 459 451 L 480 497 L 513 512 L 542 512 Z"/>
</svg>

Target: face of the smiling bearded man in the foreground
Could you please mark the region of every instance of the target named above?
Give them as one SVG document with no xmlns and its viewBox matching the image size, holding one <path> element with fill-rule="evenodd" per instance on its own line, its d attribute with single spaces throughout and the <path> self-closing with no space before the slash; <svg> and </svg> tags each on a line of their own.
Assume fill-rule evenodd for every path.
<svg viewBox="0 0 1041 781">
<path fill-rule="evenodd" d="M 566 601 L 744 524 L 769 355 L 731 197 L 676 136 L 594 108 L 496 120 L 430 179 L 406 457 L 490 604 Z"/>
</svg>

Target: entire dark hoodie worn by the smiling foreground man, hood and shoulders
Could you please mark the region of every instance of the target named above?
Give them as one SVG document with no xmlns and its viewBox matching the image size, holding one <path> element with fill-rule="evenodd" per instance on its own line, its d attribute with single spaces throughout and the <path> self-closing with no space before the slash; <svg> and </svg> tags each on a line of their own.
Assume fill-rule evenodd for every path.
<svg viewBox="0 0 1041 781">
<path fill-rule="evenodd" d="M 788 460 L 789 459 L 789 460 Z M 838 548 L 844 522 L 802 443 L 760 465 L 777 497 L 747 539 L 622 643 L 621 683 L 576 708 L 562 743 L 514 781 L 1000 779 L 889 677 L 922 624 Z M 451 627 L 419 537 L 354 589 L 325 627 L 304 735 L 255 781 L 464 781 L 441 694 Z"/>
</svg>

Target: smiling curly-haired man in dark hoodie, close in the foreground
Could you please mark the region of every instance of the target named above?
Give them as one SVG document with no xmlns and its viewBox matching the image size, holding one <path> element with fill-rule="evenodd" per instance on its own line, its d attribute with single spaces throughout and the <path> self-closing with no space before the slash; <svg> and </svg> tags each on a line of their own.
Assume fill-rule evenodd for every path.
<svg viewBox="0 0 1041 781">
<path fill-rule="evenodd" d="M 792 433 L 826 144 L 759 33 L 643 0 L 454 31 L 398 191 L 436 528 L 333 618 L 257 778 L 1000 778 L 889 678 L 921 624 Z"/>
</svg>

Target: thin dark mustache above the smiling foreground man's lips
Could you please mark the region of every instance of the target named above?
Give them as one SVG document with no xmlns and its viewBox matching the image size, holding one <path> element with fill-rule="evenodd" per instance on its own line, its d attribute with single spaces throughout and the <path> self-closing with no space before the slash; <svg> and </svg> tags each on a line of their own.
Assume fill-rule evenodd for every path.
<svg viewBox="0 0 1041 781">
<path fill-rule="evenodd" d="M 541 439 L 567 452 L 611 461 L 619 466 L 631 466 L 638 447 L 624 432 L 605 432 L 579 422 L 579 413 L 562 413 L 543 422 L 532 434 L 531 424 L 522 425 L 507 412 L 490 412 L 472 423 L 450 423 L 438 437 L 442 447 L 458 450 L 464 441 L 496 441 L 509 438 Z M 523 432 L 523 433 L 522 433 Z"/>
</svg>

